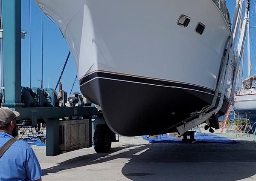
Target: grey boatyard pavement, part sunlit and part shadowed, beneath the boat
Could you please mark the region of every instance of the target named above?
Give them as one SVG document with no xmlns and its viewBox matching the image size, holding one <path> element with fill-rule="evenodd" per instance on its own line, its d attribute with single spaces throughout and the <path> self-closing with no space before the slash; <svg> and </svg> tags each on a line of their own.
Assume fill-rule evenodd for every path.
<svg viewBox="0 0 256 181">
<path fill-rule="evenodd" d="M 43 181 L 256 181 L 256 136 L 216 135 L 236 144 L 149 144 L 142 137 L 120 137 L 108 154 L 93 148 L 55 157 L 33 147 Z"/>
</svg>

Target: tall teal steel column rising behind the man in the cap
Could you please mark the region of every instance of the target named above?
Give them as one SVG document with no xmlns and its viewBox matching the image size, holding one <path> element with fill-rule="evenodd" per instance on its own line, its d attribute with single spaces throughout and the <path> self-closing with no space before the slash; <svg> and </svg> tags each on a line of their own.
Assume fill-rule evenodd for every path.
<svg viewBox="0 0 256 181">
<path fill-rule="evenodd" d="M 20 104 L 21 1 L 3 0 L 5 106 Z"/>
</svg>

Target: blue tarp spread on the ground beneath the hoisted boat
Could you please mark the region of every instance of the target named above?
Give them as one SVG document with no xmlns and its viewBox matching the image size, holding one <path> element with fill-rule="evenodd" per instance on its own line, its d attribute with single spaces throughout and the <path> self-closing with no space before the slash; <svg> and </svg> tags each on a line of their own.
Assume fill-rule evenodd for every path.
<svg viewBox="0 0 256 181">
<path fill-rule="evenodd" d="M 143 136 L 149 143 L 183 143 L 181 138 L 175 138 L 171 135 L 158 135 L 157 138 L 149 138 L 149 136 Z M 189 138 L 189 136 L 188 136 Z M 195 135 L 197 143 L 221 143 L 221 144 L 236 144 L 237 141 L 230 140 L 228 138 L 220 137 L 212 134 L 199 133 Z"/>
</svg>

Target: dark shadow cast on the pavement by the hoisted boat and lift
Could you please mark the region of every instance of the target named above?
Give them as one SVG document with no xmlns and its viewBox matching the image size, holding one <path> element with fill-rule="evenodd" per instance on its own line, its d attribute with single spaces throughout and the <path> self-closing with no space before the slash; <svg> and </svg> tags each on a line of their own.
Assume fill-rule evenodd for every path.
<svg viewBox="0 0 256 181">
<path fill-rule="evenodd" d="M 256 174 L 256 142 L 239 141 L 238 144 L 124 145 L 108 154 L 83 155 L 61 162 L 44 169 L 43 175 L 117 158 L 129 159 L 122 174 L 133 181 L 237 181 Z"/>
</svg>

